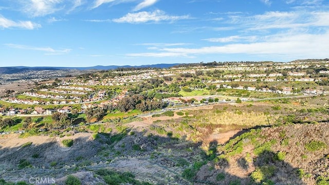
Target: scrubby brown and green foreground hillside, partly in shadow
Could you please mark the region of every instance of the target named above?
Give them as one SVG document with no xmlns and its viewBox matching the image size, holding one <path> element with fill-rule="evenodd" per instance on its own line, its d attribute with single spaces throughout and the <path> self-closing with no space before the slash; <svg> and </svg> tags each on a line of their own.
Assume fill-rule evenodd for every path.
<svg viewBox="0 0 329 185">
<path fill-rule="evenodd" d="M 187 109 L 183 116 L 3 135 L 0 175 L 17 182 L 38 174 L 56 184 L 65 184 L 70 174 L 82 184 L 120 184 L 128 182 L 123 172 L 130 174 L 130 184 L 321 184 L 329 170 L 329 124 L 314 120 L 327 119 L 326 112 L 307 114 L 312 123 L 294 124 L 273 118 L 290 111 L 291 104 L 280 106 L 278 112 L 271 103 L 214 105 Z M 281 121 L 270 120 L 268 126 L 261 120 L 264 110 Z M 67 139 L 72 146 L 64 146 Z M 118 183 L 109 181 L 114 176 Z"/>
</svg>

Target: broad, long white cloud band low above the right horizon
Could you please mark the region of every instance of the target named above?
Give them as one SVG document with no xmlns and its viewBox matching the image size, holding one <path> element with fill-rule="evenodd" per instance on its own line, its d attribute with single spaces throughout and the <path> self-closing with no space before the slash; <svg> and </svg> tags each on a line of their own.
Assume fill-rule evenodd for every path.
<svg viewBox="0 0 329 185">
<path fill-rule="evenodd" d="M 247 54 L 282 59 L 327 58 L 329 31 L 323 34 L 275 34 L 264 42 L 200 48 L 160 48 L 158 52 L 128 53 L 130 57 L 195 57 L 200 54 Z"/>
</svg>

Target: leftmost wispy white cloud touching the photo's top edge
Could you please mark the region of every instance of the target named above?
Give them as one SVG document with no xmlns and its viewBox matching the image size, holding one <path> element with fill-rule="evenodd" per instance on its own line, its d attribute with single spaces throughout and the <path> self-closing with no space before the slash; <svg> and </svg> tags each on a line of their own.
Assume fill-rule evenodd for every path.
<svg viewBox="0 0 329 185">
<path fill-rule="evenodd" d="M 59 7 L 63 0 L 26 0 L 22 1 L 25 5 L 24 12 L 31 16 L 44 16 L 52 14 L 56 11 L 63 9 Z"/>
</svg>

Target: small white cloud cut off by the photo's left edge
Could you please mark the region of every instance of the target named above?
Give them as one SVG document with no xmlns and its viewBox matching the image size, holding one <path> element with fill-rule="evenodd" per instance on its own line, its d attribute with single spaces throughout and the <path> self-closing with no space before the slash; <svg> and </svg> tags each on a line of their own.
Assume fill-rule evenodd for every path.
<svg viewBox="0 0 329 185">
<path fill-rule="evenodd" d="M 36 29 L 41 28 L 40 24 L 31 21 L 12 21 L 0 15 L 0 28 Z"/>
</svg>

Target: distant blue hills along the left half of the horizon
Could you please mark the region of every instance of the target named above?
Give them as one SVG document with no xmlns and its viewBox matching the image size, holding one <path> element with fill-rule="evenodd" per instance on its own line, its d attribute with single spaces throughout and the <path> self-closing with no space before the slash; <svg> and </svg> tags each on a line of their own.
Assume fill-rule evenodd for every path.
<svg viewBox="0 0 329 185">
<path fill-rule="evenodd" d="M 27 66 L 12 66 L 12 67 L 0 67 L 0 74 L 13 74 L 17 72 L 24 72 L 27 70 L 69 70 L 69 69 L 77 69 L 77 70 L 109 70 L 116 68 L 129 68 L 129 67 L 151 67 L 151 68 L 168 68 L 179 64 L 152 64 L 152 65 L 140 65 L 140 66 L 118 66 L 118 65 L 109 65 L 109 66 L 92 66 L 92 67 L 27 67 Z"/>
</svg>

